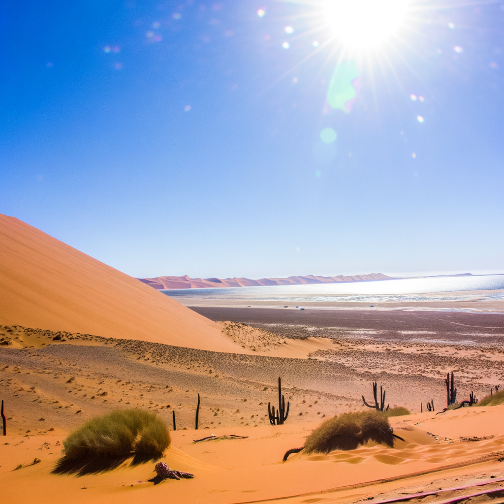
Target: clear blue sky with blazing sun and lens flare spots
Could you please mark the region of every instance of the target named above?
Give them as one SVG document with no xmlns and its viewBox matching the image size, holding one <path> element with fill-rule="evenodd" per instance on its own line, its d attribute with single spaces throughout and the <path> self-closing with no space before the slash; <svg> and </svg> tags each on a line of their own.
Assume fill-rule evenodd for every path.
<svg viewBox="0 0 504 504">
<path fill-rule="evenodd" d="M 0 57 L 0 212 L 129 275 L 504 272 L 502 3 L 4 0 Z"/>
</svg>

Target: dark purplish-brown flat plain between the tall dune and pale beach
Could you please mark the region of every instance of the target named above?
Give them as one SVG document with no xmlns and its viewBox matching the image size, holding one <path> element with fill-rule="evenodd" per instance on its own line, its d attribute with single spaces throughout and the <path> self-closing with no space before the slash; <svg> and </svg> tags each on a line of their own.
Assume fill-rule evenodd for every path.
<svg viewBox="0 0 504 504">
<path fill-rule="evenodd" d="M 501 347 L 504 341 L 504 313 L 209 306 L 191 309 L 214 321 L 247 324 L 287 338 L 318 336 L 494 347 Z"/>
</svg>

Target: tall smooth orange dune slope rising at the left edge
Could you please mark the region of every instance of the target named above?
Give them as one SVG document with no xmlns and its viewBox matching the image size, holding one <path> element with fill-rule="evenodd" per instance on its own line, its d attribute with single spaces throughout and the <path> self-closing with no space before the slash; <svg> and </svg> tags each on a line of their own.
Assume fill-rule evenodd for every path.
<svg viewBox="0 0 504 504">
<path fill-rule="evenodd" d="M 199 313 L 2 214 L 0 323 L 243 352 Z"/>
</svg>

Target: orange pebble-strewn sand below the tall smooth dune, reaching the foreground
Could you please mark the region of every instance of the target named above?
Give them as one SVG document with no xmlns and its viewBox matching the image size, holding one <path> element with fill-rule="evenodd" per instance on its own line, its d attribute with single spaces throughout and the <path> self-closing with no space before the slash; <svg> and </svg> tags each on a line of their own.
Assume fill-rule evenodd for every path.
<svg viewBox="0 0 504 504">
<path fill-rule="evenodd" d="M 231 322 L 219 327 L 249 353 L 2 326 L 2 337 L 11 341 L 0 346 L 9 429 L 0 443 L 6 499 L 30 501 L 35 488 L 38 500 L 56 503 L 360 502 L 429 491 L 435 492 L 425 497 L 429 502 L 478 492 L 471 501 L 504 497 L 504 406 L 419 412 L 420 403 L 425 409 L 431 399 L 436 412 L 442 407 L 447 370 L 455 370 L 460 399 L 472 390 L 482 397 L 500 385 L 499 348 L 300 340 Z M 277 402 L 278 375 L 291 410 L 285 425 L 271 426 L 267 403 Z M 413 411 L 390 419 L 404 442 L 300 453 L 281 462 L 324 419 L 365 409 L 360 396 L 371 400 L 372 380 L 384 385 L 391 406 Z M 202 407 L 196 431 L 197 393 Z M 155 461 L 135 465 L 132 459 L 104 472 L 86 466 L 52 473 L 68 432 L 94 415 L 132 406 L 158 412 L 170 427 L 175 411 L 177 430 L 162 460 L 194 479 L 155 485 L 148 481 Z M 194 443 L 212 434 L 248 437 Z M 467 485 L 479 486 L 451 490 Z M 492 493 L 500 488 L 502 493 Z"/>
</svg>

